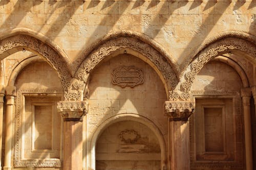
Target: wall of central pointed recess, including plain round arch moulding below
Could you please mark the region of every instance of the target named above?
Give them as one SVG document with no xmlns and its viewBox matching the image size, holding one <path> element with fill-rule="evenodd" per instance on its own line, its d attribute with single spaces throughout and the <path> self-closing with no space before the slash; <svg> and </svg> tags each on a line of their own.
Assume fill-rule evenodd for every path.
<svg viewBox="0 0 256 170">
<path fill-rule="evenodd" d="M 119 71 L 121 74 L 117 73 Z M 127 71 L 127 72 L 126 72 Z M 117 77 L 129 75 L 129 71 L 135 72 L 132 76 L 140 75 L 143 81 L 131 86 L 122 86 L 123 84 L 116 80 Z M 131 75 L 130 75 L 131 76 Z M 126 80 L 126 79 L 125 79 Z M 114 81 L 114 83 L 113 83 Z M 130 82 L 131 83 L 131 82 Z M 84 156 L 84 162 L 89 160 L 90 167 L 95 169 L 95 144 L 98 135 L 104 129 L 106 123 L 115 123 L 118 117 L 123 116 L 126 120 L 130 115 L 135 122 L 143 119 L 144 124 L 150 128 L 160 140 L 161 148 L 161 168 L 166 167 L 166 145 L 168 134 L 168 122 L 164 117 L 163 104 L 166 101 L 166 91 L 164 85 L 156 71 L 143 60 L 131 54 L 119 54 L 109 56 L 100 63 L 88 78 L 87 91 L 84 96 L 88 98 L 89 109 L 84 129 L 85 138 L 89 143 L 89 159 Z M 127 114 L 133 113 L 133 114 Z M 112 120 L 114 122 L 112 122 Z M 143 123 L 142 122 L 142 123 Z M 104 125 L 104 126 L 102 126 Z M 99 131 L 100 130 L 100 131 Z M 157 131 L 155 131 L 157 130 Z M 165 138 L 163 136 L 165 135 Z M 84 151 L 84 155 L 87 153 Z M 86 163 L 84 163 L 86 164 Z"/>
</svg>

